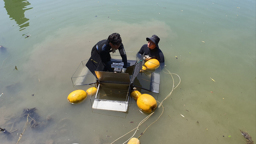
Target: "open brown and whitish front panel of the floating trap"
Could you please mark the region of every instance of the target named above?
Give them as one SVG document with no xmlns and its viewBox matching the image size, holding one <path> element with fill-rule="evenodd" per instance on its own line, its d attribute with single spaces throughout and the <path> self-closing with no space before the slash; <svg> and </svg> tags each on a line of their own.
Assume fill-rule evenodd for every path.
<svg viewBox="0 0 256 144">
<path fill-rule="evenodd" d="M 95 71 L 95 75 L 98 90 L 92 108 L 126 112 L 130 93 L 129 74 Z"/>
</svg>

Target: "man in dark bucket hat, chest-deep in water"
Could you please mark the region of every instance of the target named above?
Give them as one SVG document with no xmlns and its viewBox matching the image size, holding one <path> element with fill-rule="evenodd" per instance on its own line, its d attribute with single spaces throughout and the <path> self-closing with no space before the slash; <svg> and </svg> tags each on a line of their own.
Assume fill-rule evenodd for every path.
<svg viewBox="0 0 256 144">
<path fill-rule="evenodd" d="M 158 43 L 160 41 L 160 38 L 158 38 L 157 35 L 152 35 L 150 38 L 146 38 L 148 41 L 148 44 L 144 44 L 140 50 L 139 50 L 139 55 L 144 54 L 144 60 L 148 61 L 150 59 L 156 59 L 160 63 L 164 62 L 164 55 L 162 51 L 159 49 Z"/>
</svg>

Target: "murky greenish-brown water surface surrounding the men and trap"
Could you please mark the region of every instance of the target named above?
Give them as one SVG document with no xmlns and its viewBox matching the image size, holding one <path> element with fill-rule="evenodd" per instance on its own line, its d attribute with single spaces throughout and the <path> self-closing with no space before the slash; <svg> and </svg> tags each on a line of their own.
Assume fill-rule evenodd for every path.
<svg viewBox="0 0 256 144">
<path fill-rule="evenodd" d="M 92 111 L 89 98 L 67 102 L 80 62 L 115 32 L 126 51 L 138 51 L 146 37 L 158 35 L 165 68 L 181 78 L 141 144 L 242 144 L 239 129 L 256 141 L 255 6 L 250 0 L 0 1 L 0 45 L 6 48 L 0 51 L 0 127 L 18 129 L 1 133 L 1 142 L 17 143 L 27 122 L 20 118 L 23 109 L 33 107 L 41 127 L 28 125 L 19 144 L 110 144 L 137 127 L 147 115 L 134 100 L 127 113 Z M 167 70 L 161 73 L 158 101 L 173 86 Z"/>
</svg>

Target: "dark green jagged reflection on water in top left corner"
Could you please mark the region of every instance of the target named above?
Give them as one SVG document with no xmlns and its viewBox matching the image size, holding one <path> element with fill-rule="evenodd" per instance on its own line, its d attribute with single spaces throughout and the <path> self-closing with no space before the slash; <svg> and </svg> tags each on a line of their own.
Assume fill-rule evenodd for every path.
<svg viewBox="0 0 256 144">
<path fill-rule="evenodd" d="M 33 7 L 27 8 L 30 3 L 27 0 L 4 0 L 5 8 L 7 14 L 10 16 L 11 20 L 14 19 L 15 22 L 20 27 L 20 31 L 24 30 L 29 26 L 28 18 L 25 17 L 25 11 L 32 9 Z M 27 23 L 26 23 L 27 22 Z"/>
</svg>

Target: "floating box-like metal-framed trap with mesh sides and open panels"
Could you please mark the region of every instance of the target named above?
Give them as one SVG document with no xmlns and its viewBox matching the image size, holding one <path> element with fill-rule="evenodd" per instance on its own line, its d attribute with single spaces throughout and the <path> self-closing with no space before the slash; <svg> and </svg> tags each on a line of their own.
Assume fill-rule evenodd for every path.
<svg viewBox="0 0 256 144">
<path fill-rule="evenodd" d="M 136 55 L 134 52 L 127 52 L 127 55 L 128 53 Z M 109 63 L 122 62 L 120 57 L 120 55 L 111 55 Z M 129 96 L 133 87 L 159 93 L 160 70 L 155 72 L 145 71 L 145 73 L 139 74 L 143 56 L 140 59 L 137 56 L 127 56 L 127 58 L 126 73 L 102 72 L 104 67 L 102 67 L 98 53 L 94 53 L 88 60 L 81 61 L 71 79 L 73 87 L 76 89 L 86 90 L 86 85 L 97 88 L 95 95 L 89 95 L 92 110 L 127 112 Z M 139 79 L 136 78 L 137 76 Z"/>
</svg>

